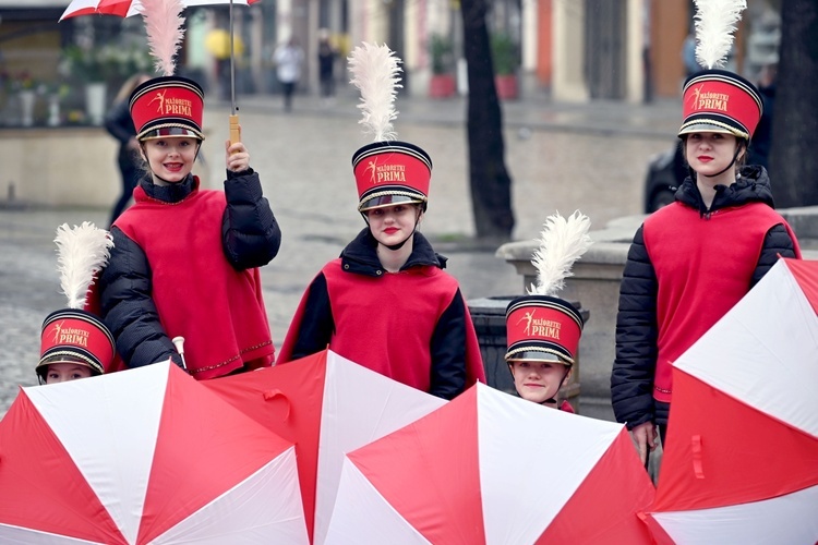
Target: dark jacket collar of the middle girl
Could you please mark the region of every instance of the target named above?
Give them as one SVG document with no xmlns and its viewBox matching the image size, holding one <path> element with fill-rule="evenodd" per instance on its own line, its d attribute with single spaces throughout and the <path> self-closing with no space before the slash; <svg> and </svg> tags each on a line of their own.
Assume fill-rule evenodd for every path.
<svg viewBox="0 0 818 545">
<path fill-rule="evenodd" d="M 347 244 L 340 254 L 344 270 L 377 277 L 383 275 L 384 268 L 377 258 L 377 241 L 372 235 L 369 227 L 358 233 L 352 242 Z M 436 254 L 432 244 L 420 232 L 414 231 L 412 235 L 412 253 L 400 270 L 417 266 L 432 266 L 446 268 L 447 258 Z"/>
</svg>

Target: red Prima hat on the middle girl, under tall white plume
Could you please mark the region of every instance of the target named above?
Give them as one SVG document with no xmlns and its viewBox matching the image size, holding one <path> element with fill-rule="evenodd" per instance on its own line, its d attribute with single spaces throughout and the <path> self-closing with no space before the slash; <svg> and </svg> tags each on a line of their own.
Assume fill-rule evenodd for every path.
<svg viewBox="0 0 818 545">
<path fill-rule="evenodd" d="M 375 142 L 352 156 L 358 185 L 358 211 L 398 203 L 425 203 L 432 159 L 407 142 Z"/>
</svg>

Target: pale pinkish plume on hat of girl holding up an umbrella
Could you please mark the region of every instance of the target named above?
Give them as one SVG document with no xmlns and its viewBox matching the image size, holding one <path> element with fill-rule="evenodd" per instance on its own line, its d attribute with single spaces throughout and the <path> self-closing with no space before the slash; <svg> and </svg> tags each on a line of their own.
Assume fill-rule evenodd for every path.
<svg viewBox="0 0 818 545">
<path fill-rule="evenodd" d="M 161 75 L 173 75 L 175 57 L 184 38 L 184 4 L 182 0 L 140 0 L 140 3 L 156 71 Z"/>
</svg>

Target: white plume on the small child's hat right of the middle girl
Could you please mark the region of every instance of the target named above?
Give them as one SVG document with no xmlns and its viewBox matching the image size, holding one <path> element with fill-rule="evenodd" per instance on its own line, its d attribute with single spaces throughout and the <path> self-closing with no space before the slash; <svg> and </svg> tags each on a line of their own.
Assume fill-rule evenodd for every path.
<svg viewBox="0 0 818 545">
<path fill-rule="evenodd" d="M 593 243 L 588 235 L 591 220 L 579 210 L 564 218 L 556 213 L 549 216 L 540 233 L 540 247 L 534 251 L 531 263 L 537 269 L 537 283 L 528 290 L 529 295 L 555 295 L 565 287 L 565 278 L 574 262 L 579 259 Z"/>
</svg>

